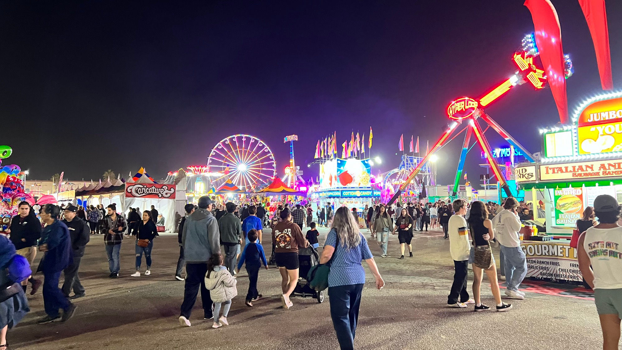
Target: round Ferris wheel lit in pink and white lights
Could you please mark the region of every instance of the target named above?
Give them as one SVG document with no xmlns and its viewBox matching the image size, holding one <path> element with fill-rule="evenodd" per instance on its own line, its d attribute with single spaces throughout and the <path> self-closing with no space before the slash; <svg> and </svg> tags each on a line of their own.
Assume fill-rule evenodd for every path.
<svg viewBox="0 0 622 350">
<path fill-rule="evenodd" d="M 274 154 L 264 141 L 251 135 L 232 135 L 211 149 L 207 171 L 220 173 L 211 181 L 218 189 L 227 179 L 244 192 L 253 192 L 276 177 Z"/>
</svg>

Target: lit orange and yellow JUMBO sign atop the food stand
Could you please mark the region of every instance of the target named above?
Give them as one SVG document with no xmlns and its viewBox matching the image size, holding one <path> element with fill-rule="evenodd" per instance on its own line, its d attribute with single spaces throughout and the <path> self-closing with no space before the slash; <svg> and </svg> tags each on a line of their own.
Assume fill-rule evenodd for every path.
<svg viewBox="0 0 622 350">
<path fill-rule="evenodd" d="M 577 126 L 579 154 L 622 151 L 622 97 L 590 103 Z"/>
</svg>

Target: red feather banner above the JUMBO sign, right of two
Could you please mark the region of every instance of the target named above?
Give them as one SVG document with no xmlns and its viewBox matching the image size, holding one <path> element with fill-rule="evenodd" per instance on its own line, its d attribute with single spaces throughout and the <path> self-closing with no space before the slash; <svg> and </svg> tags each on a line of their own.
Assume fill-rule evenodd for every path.
<svg viewBox="0 0 622 350">
<path fill-rule="evenodd" d="M 605 0 L 579 0 L 579 4 L 583 10 L 587 26 L 590 28 L 590 34 L 592 34 L 596 62 L 598 62 L 598 73 L 600 73 L 600 85 L 602 85 L 603 90 L 613 90 Z"/>
</svg>

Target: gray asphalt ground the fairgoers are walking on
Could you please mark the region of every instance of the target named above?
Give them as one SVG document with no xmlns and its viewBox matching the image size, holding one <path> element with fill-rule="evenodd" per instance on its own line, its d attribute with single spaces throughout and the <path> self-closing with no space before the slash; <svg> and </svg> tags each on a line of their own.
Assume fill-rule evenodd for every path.
<svg viewBox="0 0 622 350">
<path fill-rule="evenodd" d="M 327 232 L 320 228 L 320 242 Z M 363 232 L 369 237 L 366 230 Z M 264 237 L 264 250 L 269 255 L 269 230 Z M 259 272 L 258 289 L 264 298 L 253 308 L 244 305 L 248 279 L 244 269 L 239 273 L 238 296 L 231 306 L 229 326 L 212 329 L 212 321 L 203 320 L 197 298 L 190 318 L 192 326 L 180 327 L 177 318 L 184 282 L 174 280 L 179 256 L 177 236 L 156 239 L 152 275 L 138 278 L 130 277 L 134 272 L 133 242 L 124 240 L 120 276 L 110 279 L 103 237 L 91 237 L 80 268 L 86 296 L 75 300 L 75 316 L 64 324 L 39 325 L 37 320 L 45 315 L 41 291 L 29 296 L 29 315 L 9 331 L 11 349 L 338 348 L 330 319 L 330 298 L 320 304 L 313 298 L 292 297 L 294 306 L 284 310 L 279 299 L 281 276 L 272 267 Z M 356 329 L 357 349 L 601 348 L 593 301 L 527 293 L 525 300 L 506 300 L 514 308 L 503 313 L 475 313 L 472 305 L 466 309 L 448 308 L 447 294 L 453 278 L 448 240 L 443 240 L 440 230 L 415 232 L 413 246 L 414 257 L 399 260 L 397 235 L 389 241 L 391 257 L 380 258 L 380 248 L 370 242 L 386 285 L 376 290 L 373 276 L 363 264 L 367 281 Z M 144 260 L 142 265 L 144 272 Z M 470 280 L 472 277 L 470 273 Z M 483 303 L 494 306 L 486 278 L 482 298 Z"/>
</svg>

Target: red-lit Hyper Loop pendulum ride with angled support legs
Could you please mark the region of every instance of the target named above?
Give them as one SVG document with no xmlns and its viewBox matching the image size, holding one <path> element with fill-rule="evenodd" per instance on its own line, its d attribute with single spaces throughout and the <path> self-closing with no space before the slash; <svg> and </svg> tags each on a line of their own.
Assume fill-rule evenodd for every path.
<svg viewBox="0 0 622 350">
<path fill-rule="evenodd" d="M 458 170 L 456 172 L 456 177 L 453 182 L 452 197 L 455 197 L 458 191 L 460 177 L 462 176 L 462 171 L 466 159 L 466 153 L 468 152 L 471 136 L 473 135 L 473 133 L 475 133 L 476 141 L 480 144 L 482 151 L 484 151 L 486 160 L 493 169 L 494 176 L 497 177 L 499 185 L 501 185 L 501 188 L 503 188 L 503 191 L 505 191 L 508 196 L 512 196 L 512 193 L 508 187 L 508 183 L 506 182 L 506 179 L 503 176 L 501 169 L 499 169 L 499 164 L 497 164 L 497 162 L 493 158 L 493 155 L 491 154 L 490 144 L 488 144 L 488 140 L 486 140 L 486 137 L 481 130 L 480 124 L 478 123 L 478 118 L 484 120 L 511 146 L 513 146 L 514 148 L 518 148 L 525 156 L 527 161 L 534 163 L 534 156 L 532 156 L 531 153 L 529 153 L 524 147 L 522 147 L 518 143 L 518 141 L 514 140 L 512 136 L 510 136 L 505 130 L 503 130 L 503 128 L 501 128 L 501 126 L 499 126 L 483 110 L 483 107 L 490 105 L 490 103 L 494 102 L 494 100 L 496 100 L 497 98 L 503 96 L 506 92 L 508 92 L 516 85 L 522 85 L 526 82 L 529 82 L 531 83 L 532 87 L 536 88 L 536 90 L 542 89 L 546 86 L 547 77 L 545 75 L 544 69 L 542 69 L 542 67 L 539 67 L 539 65 L 537 65 L 536 61 L 534 60 L 534 58 L 539 55 L 534 33 L 526 35 L 526 37 L 522 39 L 521 44 L 522 48 L 514 52 L 514 55 L 512 57 L 514 64 L 518 67 L 518 70 L 516 70 L 514 74 L 508 78 L 508 80 L 505 80 L 479 99 L 460 97 L 450 103 L 449 106 L 447 106 L 447 116 L 455 121 L 453 121 L 448 126 L 447 130 L 440 137 L 439 141 L 437 141 L 437 143 L 434 144 L 430 151 L 425 154 L 425 157 L 419 162 L 419 164 L 417 164 L 417 166 L 412 169 L 411 173 L 406 177 L 406 181 L 402 182 L 401 186 L 399 186 L 399 189 L 396 191 L 393 197 L 391 197 L 389 204 L 392 204 L 396 201 L 397 197 L 399 197 L 402 191 L 406 189 L 412 179 L 417 176 L 424 164 L 430 160 L 432 154 L 434 154 L 439 148 L 443 146 L 443 143 L 448 140 L 449 136 L 452 135 L 453 131 L 455 131 L 457 129 L 457 126 L 461 125 L 463 121 L 467 121 L 465 126 L 466 135 L 465 141 L 462 146 L 462 152 L 460 153 L 460 160 L 458 161 Z M 573 68 L 572 62 L 570 61 L 568 55 L 564 55 L 564 62 L 565 78 L 569 78 L 573 73 Z"/>
</svg>

